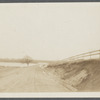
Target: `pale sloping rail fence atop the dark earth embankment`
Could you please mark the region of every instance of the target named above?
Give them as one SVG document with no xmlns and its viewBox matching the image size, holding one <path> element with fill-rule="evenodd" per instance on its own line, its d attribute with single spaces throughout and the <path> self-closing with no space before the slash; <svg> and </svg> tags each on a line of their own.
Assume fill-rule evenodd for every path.
<svg viewBox="0 0 100 100">
<path fill-rule="evenodd" d="M 87 59 L 92 59 L 93 56 L 98 56 L 96 58 L 100 59 L 100 50 L 95 50 L 95 51 L 91 51 L 91 52 L 87 52 L 87 53 L 82 53 L 82 54 L 79 54 L 79 55 L 76 55 L 76 56 L 69 57 L 65 60 L 75 61 L 75 60 L 85 59 L 86 57 L 88 57 Z"/>
</svg>

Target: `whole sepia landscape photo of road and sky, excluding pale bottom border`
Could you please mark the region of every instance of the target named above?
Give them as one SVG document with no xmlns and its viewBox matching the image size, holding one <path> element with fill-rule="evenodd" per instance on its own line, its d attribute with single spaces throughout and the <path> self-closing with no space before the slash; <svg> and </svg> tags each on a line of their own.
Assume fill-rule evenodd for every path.
<svg viewBox="0 0 100 100">
<path fill-rule="evenodd" d="M 100 3 L 0 4 L 0 93 L 100 92 Z"/>
</svg>

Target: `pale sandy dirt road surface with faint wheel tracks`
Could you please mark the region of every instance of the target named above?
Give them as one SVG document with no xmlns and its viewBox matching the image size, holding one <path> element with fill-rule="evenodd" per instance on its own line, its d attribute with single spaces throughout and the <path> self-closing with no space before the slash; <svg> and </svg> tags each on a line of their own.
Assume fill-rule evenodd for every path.
<svg viewBox="0 0 100 100">
<path fill-rule="evenodd" d="M 5 69 L 5 70 L 4 70 Z M 39 66 L 0 69 L 0 92 L 67 92 L 69 89 Z"/>
</svg>

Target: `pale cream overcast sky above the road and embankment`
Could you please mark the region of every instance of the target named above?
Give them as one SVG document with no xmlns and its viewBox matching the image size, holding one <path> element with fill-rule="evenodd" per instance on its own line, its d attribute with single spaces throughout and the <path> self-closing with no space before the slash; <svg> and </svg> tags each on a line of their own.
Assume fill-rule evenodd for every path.
<svg viewBox="0 0 100 100">
<path fill-rule="evenodd" d="M 0 58 L 65 59 L 100 49 L 100 3 L 0 4 Z"/>
</svg>

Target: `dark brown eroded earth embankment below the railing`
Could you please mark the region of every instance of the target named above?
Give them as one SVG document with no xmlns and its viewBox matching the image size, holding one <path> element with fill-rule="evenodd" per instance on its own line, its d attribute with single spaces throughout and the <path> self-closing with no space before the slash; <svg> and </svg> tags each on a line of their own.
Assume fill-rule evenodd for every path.
<svg viewBox="0 0 100 100">
<path fill-rule="evenodd" d="M 58 76 L 64 82 L 64 86 L 72 86 L 79 92 L 100 91 L 99 59 L 52 64 L 46 70 Z"/>
</svg>

